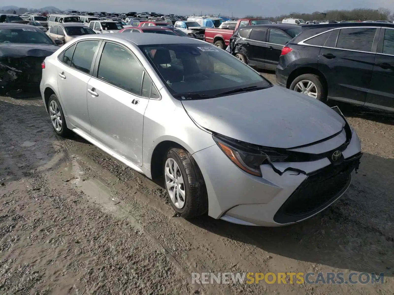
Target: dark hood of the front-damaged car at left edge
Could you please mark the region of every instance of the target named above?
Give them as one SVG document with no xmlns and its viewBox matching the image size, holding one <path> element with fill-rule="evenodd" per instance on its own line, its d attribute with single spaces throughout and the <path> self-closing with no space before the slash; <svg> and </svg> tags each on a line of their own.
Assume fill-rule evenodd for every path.
<svg viewBox="0 0 394 295">
<path fill-rule="evenodd" d="M 51 44 L 0 44 L 0 58 L 2 57 L 47 57 L 59 49 L 58 45 Z"/>
</svg>

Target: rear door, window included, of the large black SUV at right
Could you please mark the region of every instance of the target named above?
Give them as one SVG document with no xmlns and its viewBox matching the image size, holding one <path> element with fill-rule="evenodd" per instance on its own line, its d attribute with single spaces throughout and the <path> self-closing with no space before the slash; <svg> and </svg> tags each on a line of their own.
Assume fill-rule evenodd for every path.
<svg viewBox="0 0 394 295">
<path fill-rule="evenodd" d="M 333 30 L 329 37 L 332 42 L 337 36 L 335 46 L 326 42 L 320 50 L 318 61 L 318 69 L 327 78 L 329 98 L 364 105 L 375 62 L 379 30 L 376 27 Z"/>
</svg>

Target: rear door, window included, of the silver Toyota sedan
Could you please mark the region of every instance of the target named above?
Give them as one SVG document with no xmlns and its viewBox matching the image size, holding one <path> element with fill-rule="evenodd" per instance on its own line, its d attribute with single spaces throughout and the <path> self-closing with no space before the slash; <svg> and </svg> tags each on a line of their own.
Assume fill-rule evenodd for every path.
<svg viewBox="0 0 394 295">
<path fill-rule="evenodd" d="M 100 41 L 80 41 L 67 48 L 58 66 L 58 90 L 63 110 L 75 127 L 90 133 L 87 112 L 87 82 Z M 71 127 L 71 126 L 69 126 Z"/>
</svg>

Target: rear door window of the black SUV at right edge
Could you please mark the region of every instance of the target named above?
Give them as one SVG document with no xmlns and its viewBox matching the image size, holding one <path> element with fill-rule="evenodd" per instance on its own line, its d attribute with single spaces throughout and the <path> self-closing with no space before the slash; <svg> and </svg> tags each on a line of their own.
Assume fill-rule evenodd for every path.
<svg viewBox="0 0 394 295">
<path fill-rule="evenodd" d="M 370 52 L 375 33 L 375 28 L 340 29 L 336 48 Z"/>
</svg>

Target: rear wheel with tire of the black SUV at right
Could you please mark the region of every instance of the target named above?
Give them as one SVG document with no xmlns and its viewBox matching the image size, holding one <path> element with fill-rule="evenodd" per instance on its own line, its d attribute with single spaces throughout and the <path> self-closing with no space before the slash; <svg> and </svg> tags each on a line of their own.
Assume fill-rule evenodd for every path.
<svg viewBox="0 0 394 295">
<path fill-rule="evenodd" d="M 311 87 L 309 91 L 307 91 L 309 88 L 308 86 Z M 296 77 L 291 83 L 290 89 L 316 98 L 316 100 L 322 102 L 327 101 L 327 94 L 323 87 L 323 83 L 320 77 L 314 74 L 303 74 Z"/>
</svg>

